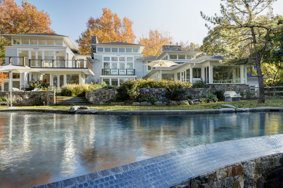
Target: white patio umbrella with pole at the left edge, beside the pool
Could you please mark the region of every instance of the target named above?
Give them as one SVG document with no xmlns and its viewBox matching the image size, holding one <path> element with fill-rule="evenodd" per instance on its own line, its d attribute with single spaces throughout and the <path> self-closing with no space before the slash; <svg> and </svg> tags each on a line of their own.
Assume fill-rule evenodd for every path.
<svg viewBox="0 0 283 188">
<path fill-rule="evenodd" d="M 23 73 L 23 72 L 39 72 L 33 70 L 27 66 L 17 66 L 17 65 L 2 65 L 0 66 L 0 72 L 9 72 L 9 79 L 10 79 L 10 103 L 12 107 L 12 73 Z"/>
</svg>

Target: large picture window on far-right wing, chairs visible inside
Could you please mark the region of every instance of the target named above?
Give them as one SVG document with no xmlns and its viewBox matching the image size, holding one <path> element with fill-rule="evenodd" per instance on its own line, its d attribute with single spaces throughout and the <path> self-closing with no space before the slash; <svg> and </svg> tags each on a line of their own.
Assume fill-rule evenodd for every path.
<svg viewBox="0 0 283 188">
<path fill-rule="evenodd" d="M 213 83 L 241 83 L 240 66 L 213 66 Z"/>
</svg>

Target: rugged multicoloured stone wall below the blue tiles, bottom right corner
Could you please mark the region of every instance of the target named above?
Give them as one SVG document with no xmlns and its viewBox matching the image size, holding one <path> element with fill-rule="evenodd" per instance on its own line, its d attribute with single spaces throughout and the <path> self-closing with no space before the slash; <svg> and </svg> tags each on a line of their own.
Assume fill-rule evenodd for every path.
<svg viewBox="0 0 283 188">
<path fill-rule="evenodd" d="M 170 187 L 258 188 L 282 186 L 282 154 L 276 154 L 228 165 Z"/>
</svg>

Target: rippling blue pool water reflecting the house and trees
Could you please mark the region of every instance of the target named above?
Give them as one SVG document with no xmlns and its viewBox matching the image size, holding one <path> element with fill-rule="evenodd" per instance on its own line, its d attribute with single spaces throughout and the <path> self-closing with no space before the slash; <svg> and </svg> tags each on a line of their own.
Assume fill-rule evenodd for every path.
<svg viewBox="0 0 283 188">
<path fill-rule="evenodd" d="M 200 144 L 283 133 L 283 113 L 0 113 L 0 187 L 32 187 Z"/>
</svg>

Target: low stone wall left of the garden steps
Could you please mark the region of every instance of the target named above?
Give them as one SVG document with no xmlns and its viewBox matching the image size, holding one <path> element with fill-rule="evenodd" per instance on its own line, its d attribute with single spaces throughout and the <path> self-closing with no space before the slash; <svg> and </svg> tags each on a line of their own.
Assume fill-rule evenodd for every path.
<svg viewBox="0 0 283 188">
<path fill-rule="evenodd" d="M 0 91 L 0 97 L 9 96 L 9 91 Z M 55 101 L 55 91 L 12 91 L 12 96 L 15 96 L 17 103 L 23 105 L 31 105 L 35 99 L 39 99 L 41 104 L 45 101 L 45 105 L 54 105 Z"/>
</svg>

